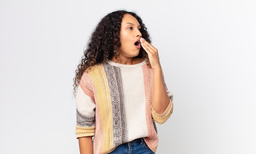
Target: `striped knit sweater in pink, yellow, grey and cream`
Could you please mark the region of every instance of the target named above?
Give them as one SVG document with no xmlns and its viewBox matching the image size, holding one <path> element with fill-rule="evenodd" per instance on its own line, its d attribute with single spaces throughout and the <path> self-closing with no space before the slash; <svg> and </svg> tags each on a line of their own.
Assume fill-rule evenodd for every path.
<svg viewBox="0 0 256 154">
<path fill-rule="evenodd" d="M 166 91 L 170 104 L 159 115 L 151 108 L 153 70 L 145 61 L 94 65 L 83 73 L 77 89 L 76 137 L 94 136 L 94 154 L 108 154 L 138 138 L 156 152 L 155 121 L 164 123 L 173 111 L 173 94 Z"/>
</svg>

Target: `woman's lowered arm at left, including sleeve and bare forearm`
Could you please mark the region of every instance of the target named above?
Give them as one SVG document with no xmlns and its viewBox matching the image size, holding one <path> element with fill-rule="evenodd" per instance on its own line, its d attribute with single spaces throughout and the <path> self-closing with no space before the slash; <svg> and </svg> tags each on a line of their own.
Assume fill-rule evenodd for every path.
<svg viewBox="0 0 256 154">
<path fill-rule="evenodd" d="M 93 154 L 95 107 L 90 76 L 83 74 L 76 93 L 76 138 L 80 154 Z"/>
</svg>

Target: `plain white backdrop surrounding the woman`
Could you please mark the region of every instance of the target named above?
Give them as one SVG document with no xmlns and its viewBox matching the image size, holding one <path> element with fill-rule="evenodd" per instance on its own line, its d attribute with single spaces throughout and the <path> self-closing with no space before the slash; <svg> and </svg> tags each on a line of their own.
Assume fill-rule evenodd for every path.
<svg viewBox="0 0 256 154">
<path fill-rule="evenodd" d="M 174 110 L 157 154 L 256 153 L 254 0 L 0 1 L 0 153 L 79 154 L 74 71 L 93 28 L 138 13 Z"/>
</svg>

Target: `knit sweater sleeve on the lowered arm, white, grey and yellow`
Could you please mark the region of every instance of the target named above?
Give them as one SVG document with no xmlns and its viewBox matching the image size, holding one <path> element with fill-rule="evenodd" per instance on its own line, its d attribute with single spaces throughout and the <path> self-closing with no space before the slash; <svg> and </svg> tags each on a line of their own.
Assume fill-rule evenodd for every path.
<svg viewBox="0 0 256 154">
<path fill-rule="evenodd" d="M 76 138 L 94 136 L 95 102 L 93 90 L 82 76 L 76 93 Z"/>
</svg>

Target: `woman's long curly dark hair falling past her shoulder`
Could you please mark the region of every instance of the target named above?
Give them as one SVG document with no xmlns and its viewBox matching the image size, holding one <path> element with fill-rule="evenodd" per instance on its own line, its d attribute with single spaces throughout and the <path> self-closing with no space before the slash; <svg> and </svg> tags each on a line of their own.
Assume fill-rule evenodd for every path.
<svg viewBox="0 0 256 154">
<path fill-rule="evenodd" d="M 130 14 L 138 20 L 141 25 L 141 35 L 146 41 L 151 43 L 147 28 L 137 14 L 125 10 L 118 10 L 103 17 L 94 29 L 88 41 L 88 46 L 84 50 L 81 62 L 77 66 L 78 69 L 75 71 L 76 76 L 73 79 L 74 95 L 79 85 L 80 78 L 86 69 L 90 69 L 90 67 L 95 64 L 107 63 L 113 56 L 118 60 L 120 54 L 119 48 L 121 46 L 119 33 L 121 22 L 125 14 Z M 148 54 L 143 48 L 140 48 L 139 55 L 136 57 L 148 61 Z M 150 64 L 148 63 L 148 65 Z"/>
</svg>

